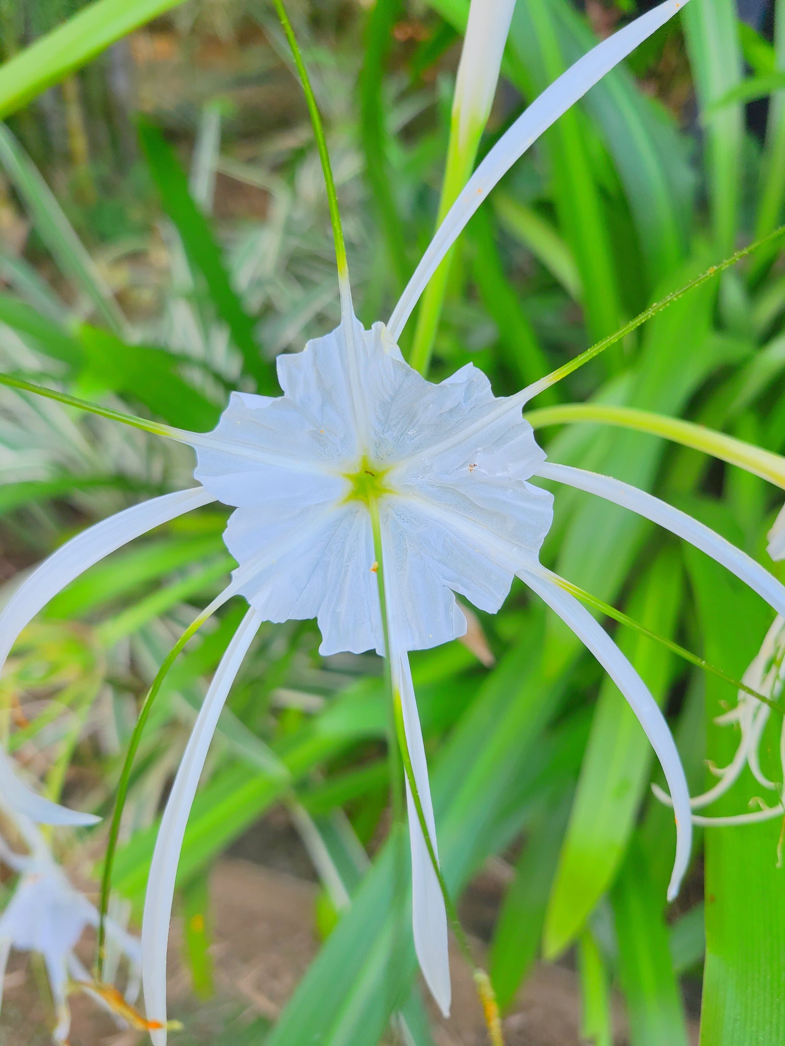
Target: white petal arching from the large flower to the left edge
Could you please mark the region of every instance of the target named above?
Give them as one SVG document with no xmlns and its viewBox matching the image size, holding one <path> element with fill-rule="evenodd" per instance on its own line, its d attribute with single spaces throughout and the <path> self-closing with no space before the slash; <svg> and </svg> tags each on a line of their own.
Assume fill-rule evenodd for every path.
<svg viewBox="0 0 785 1046">
<path fill-rule="evenodd" d="M 201 486 L 164 494 L 102 520 L 52 552 L 20 585 L 0 613 L 0 666 L 20 632 L 74 577 L 134 538 L 214 500 L 214 495 Z"/>
</svg>

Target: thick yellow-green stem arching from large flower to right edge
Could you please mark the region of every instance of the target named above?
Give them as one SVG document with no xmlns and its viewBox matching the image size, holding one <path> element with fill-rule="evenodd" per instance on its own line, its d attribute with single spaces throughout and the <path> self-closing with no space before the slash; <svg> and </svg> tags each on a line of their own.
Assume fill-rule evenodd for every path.
<svg viewBox="0 0 785 1046">
<path fill-rule="evenodd" d="M 745 469 L 773 483 L 775 486 L 785 490 L 785 458 L 780 454 L 761 450 L 753 444 L 727 436 L 723 432 L 715 432 L 693 422 L 682 422 L 677 417 L 667 417 L 634 407 L 611 407 L 596 403 L 568 403 L 557 407 L 543 407 L 523 416 L 535 429 L 546 425 L 599 422 L 632 429 L 635 432 L 648 432 L 653 436 L 663 436 L 683 447 L 711 454 L 721 461 Z"/>
</svg>

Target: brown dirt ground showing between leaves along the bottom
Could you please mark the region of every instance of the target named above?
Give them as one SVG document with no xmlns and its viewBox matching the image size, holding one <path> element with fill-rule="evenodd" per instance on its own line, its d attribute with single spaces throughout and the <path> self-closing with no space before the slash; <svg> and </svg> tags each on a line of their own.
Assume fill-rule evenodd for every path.
<svg viewBox="0 0 785 1046">
<path fill-rule="evenodd" d="M 171 1014 L 184 1024 L 173 1046 L 259 1042 L 281 1013 L 316 954 L 316 886 L 287 872 L 242 859 L 226 859 L 211 880 L 215 917 L 212 953 L 216 997 L 199 1004 L 189 975 L 178 961 L 175 927 L 170 967 Z M 435 1032 L 438 1046 L 479 1046 L 483 1018 L 471 976 L 454 956 L 453 1015 Z M 71 1046 L 136 1046 L 143 1036 L 118 1031 L 86 997 L 72 999 Z M 36 973 L 24 956 L 8 967 L 0 1026 L 2 1046 L 44 1046 L 46 1019 Z M 530 979 L 506 1022 L 508 1046 L 579 1046 L 579 1002 L 575 974 L 541 967 Z"/>
</svg>

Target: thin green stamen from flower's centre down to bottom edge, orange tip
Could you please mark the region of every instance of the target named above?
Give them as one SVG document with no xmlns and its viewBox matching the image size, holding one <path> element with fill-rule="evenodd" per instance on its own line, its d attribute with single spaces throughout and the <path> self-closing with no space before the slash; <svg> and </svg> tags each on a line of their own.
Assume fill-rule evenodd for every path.
<svg viewBox="0 0 785 1046">
<path fill-rule="evenodd" d="M 430 858 L 430 863 L 435 873 L 436 880 L 439 882 L 439 887 L 442 891 L 442 897 L 444 899 L 445 909 L 447 910 L 447 917 L 452 926 L 452 931 L 455 934 L 455 939 L 457 940 L 458 948 L 461 949 L 464 958 L 469 964 L 472 971 L 472 977 L 474 978 L 474 983 L 477 986 L 477 994 L 479 996 L 479 1001 L 483 1006 L 483 1013 L 486 1019 L 486 1025 L 488 1027 L 489 1037 L 492 1046 L 504 1046 L 504 1040 L 501 1031 L 501 1019 L 499 1016 L 499 1008 L 496 1002 L 496 996 L 493 991 L 493 985 L 488 974 L 480 970 L 474 962 L 474 957 L 472 956 L 471 948 L 469 947 L 469 940 L 466 936 L 466 932 L 461 925 L 461 919 L 458 918 L 457 909 L 450 896 L 450 892 L 447 888 L 447 883 L 445 882 L 444 876 L 442 874 L 442 869 L 439 864 L 439 858 L 436 857 L 436 851 L 433 848 L 433 840 L 431 839 L 430 832 L 428 829 L 428 824 L 425 820 L 425 813 L 423 812 L 422 800 L 420 799 L 420 792 L 418 791 L 417 781 L 414 779 L 414 771 L 411 766 L 411 756 L 409 755 L 409 746 L 406 741 L 406 730 L 403 722 L 403 706 L 401 704 L 401 692 L 397 686 L 394 676 L 392 668 L 390 664 L 390 645 L 389 645 L 389 618 L 387 615 L 387 598 L 386 591 L 384 587 L 384 568 L 383 568 L 383 548 L 382 548 L 382 532 L 381 524 L 379 520 L 379 502 L 375 497 L 368 497 L 367 499 L 368 510 L 371 513 L 371 528 L 374 535 L 374 555 L 376 562 L 374 563 L 373 570 L 376 573 L 377 583 L 379 585 L 379 605 L 382 616 L 382 634 L 384 636 L 384 681 L 387 688 L 387 692 L 390 696 L 389 706 L 391 708 L 391 737 L 389 744 L 390 753 L 390 779 L 394 782 L 392 787 L 395 792 L 398 793 L 398 812 L 397 817 L 402 818 L 403 811 L 401 809 L 400 796 L 401 796 L 401 761 L 403 763 L 404 773 L 406 774 L 406 780 L 409 784 L 409 791 L 411 792 L 411 798 L 414 803 L 414 809 L 417 811 L 417 818 L 420 822 L 420 828 L 423 833 L 423 838 L 425 839 L 425 845 L 428 849 L 428 857 Z M 398 748 L 401 753 L 401 761 L 396 756 L 396 741 L 398 743 Z M 396 813 L 394 804 L 394 813 Z M 398 820 L 396 820 L 396 825 Z"/>
</svg>

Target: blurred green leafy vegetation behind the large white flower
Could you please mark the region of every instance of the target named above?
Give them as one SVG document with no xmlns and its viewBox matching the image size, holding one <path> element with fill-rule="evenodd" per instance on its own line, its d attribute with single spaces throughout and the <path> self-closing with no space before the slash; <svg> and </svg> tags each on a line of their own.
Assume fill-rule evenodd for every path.
<svg viewBox="0 0 785 1046">
<path fill-rule="evenodd" d="M 80 6 L 0 0 L 3 58 Z M 518 0 L 484 149 L 592 40 L 646 6 Z M 386 318 L 432 232 L 468 2 L 288 7 L 369 325 Z M 785 202 L 778 70 L 783 0 L 693 0 L 473 220 L 433 377 L 473 361 L 497 394 L 512 392 L 775 229 Z M 14 113 L 0 126 L 0 237 L 5 371 L 197 430 L 216 423 L 229 389 L 273 391 L 275 356 L 336 325 L 338 303 L 318 157 L 271 6 L 188 0 Z M 688 417 L 782 453 L 784 311 L 782 259 L 760 251 L 553 395 Z M 598 425 L 540 438 L 555 460 L 687 508 L 782 578 L 765 553 L 779 505 L 763 480 Z M 3 389 L 0 577 L 13 584 L 91 522 L 188 485 L 192 469 L 182 447 Z M 25 632 L 0 711 L 8 747 L 50 795 L 111 809 L 147 686 L 231 569 L 225 518 L 211 506 L 115 553 Z M 574 491 L 558 492 L 543 562 L 737 679 L 770 623 L 701 553 Z M 145 730 L 115 876 L 132 920 L 195 709 L 242 609 L 231 604 L 188 647 Z M 606 623 L 702 791 L 738 744 L 715 723 L 734 689 Z M 391 911 L 384 845 L 380 665 L 374 655 L 322 659 L 318 642 L 314 622 L 263 627 L 223 713 L 180 865 L 178 1041 L 480 1042 L 466 979 L 444 1025 L 412 986 L 412 955 L 388 964 L 394 919 L 406 916 Z M 412 668 L 445 874 L 488 950 L 509 1041 L 562 1046 L 579 1030 L 598 1046 L 697 1041 L 701 982 L 703 1046 L 785 1041 L 780 821 L 698 832 L 689 880 L 666 909 L 674 832 L 649 791 L 658 770 L 648 744 L 615 687 L 522 586 L 496 617 L 476 615 L 468 642 L 416 655 Z M 761 742 L 777 784 L 769 803 L 782 788 L 781 729 L 771 715 Z M 760 795 L 745 771 L 709 813 L 746 813 Z M 105 841 L 99 826 L 58 846 L 89 877 Z M 243 878 L 227 851 L 267 871 Z M 318 886 L 296 893 L 264 878 L 271 867 Z M 261 911 L 254 890 L 277 904 Z M 259 920 L 255 949 L 247 926 L 241 939 L 243 910 Z M 38 1041 L 33 1024 L 46 1024 L 46 1000 L 23 1001 L 31 983 L 18 979 L 4 1008 L 9 1042 Z"/>
</svg>

